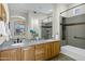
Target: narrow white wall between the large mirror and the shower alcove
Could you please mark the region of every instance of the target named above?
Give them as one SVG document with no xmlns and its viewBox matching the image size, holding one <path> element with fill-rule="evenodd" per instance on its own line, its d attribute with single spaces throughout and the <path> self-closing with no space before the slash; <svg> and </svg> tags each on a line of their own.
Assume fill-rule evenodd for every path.
<svg viewBox="0 0 85 64">
<path fill-rule="evenodd" d="M 67 10 L 68 4 L 54 4 L 53 8 L 53 36 L 60 36 L 60 12 Z M 67 14 L 62 14 L 67 16 Z"/>
</svg>

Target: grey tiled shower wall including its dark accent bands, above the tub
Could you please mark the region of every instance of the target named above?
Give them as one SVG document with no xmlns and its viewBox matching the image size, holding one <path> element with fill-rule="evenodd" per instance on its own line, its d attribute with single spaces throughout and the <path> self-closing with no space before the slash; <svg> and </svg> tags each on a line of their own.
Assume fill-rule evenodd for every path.
<svg viewBox="0 0 85 64">
<path fill-rule="evenodd" d="M 66 17 L 61 26 L 63 44 L 85 49 L 85 14 Z"/>
</svg>

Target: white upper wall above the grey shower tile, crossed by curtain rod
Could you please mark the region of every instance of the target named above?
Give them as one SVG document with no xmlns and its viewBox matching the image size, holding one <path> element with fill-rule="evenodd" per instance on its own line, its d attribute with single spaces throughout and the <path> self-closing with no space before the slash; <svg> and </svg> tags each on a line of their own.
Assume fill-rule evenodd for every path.
<svg viewBox="0 0 85 64">
<path fill-rule="evenodd" d="M 82 3 L 71 3 L 71 4 L 69 4 L 67 9 L 71 9 L 71 8 L 76 7 L 76 5 L 79 5 L 79 7 L 71 9 L 71 10 L 69 10 L 69 11 L 62 13 L 62 14 L 67 14 L 66 17 L 85 14 L 85 4 L 83 4 L 83 5 L 80 5 L 80 4 L 82 4 Z"/>
</svg>

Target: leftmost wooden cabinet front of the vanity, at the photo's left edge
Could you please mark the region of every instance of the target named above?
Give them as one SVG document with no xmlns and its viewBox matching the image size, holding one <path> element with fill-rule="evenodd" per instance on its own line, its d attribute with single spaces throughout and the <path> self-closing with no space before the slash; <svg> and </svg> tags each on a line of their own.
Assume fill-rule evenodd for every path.
<svg viewBox="0 0 85 64">
<path fill-rule="evenodd" d="M 1 61 L 20 61 L 20 49 L 9 49 L 0 51 Z"/>
</svg>

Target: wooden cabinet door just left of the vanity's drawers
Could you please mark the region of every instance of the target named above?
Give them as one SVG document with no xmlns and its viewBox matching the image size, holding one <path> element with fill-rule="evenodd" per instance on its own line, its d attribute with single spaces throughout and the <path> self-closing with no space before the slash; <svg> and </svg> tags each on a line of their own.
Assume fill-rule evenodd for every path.
<svg viewBox="0 0 85 64">
<path fill-rule="evenodd" d="M 22 49 L 23 61 L 34 61 L 34 47 L 27 47 Z"/>
</svg>

